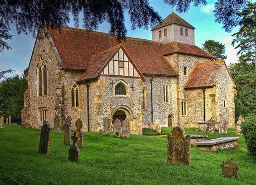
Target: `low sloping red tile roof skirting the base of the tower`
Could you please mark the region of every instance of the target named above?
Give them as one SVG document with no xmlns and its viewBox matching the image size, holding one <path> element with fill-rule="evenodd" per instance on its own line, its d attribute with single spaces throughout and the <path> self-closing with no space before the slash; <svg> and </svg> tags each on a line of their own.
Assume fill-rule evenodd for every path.
<svg viewBox="0 0 256 185">
<path fill-rule="evenodd" d="M 196 56 L 203 56 L 206 58 L 215 58 L 215 56 L 207 53 L 198 46 L 183 44 L 179 42 L 170 42 L 163 45 L 162 54 L 172 54 L 172 53 L 181 53 L 181 54 L 190 54 Z"/>
</svg>

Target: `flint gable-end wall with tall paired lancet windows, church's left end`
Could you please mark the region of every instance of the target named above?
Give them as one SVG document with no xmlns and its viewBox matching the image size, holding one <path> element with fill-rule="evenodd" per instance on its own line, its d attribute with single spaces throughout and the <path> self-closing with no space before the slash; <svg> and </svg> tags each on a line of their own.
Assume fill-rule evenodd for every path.
<svg viewBox="0 0 256 185">
<path fill-rule="evenodd" d="M 42 39 L 39 39 L 42 38 Z M 42 55 L 43 60 L 39 60 Z M 46 64 L 47 67 L 47 85 L 48 94 L 45 96 L 38 96 L 38 65 Z M 24 109 L 22 111 L 22 124 L 31 125 L 39 128 L 42 125 L 39 116 L 39 109 L 46 109 L 48 113 L 48 121 L 53 127 L 53 119 L 55 114 L 55 98 L 56 98 L 56 84 L 60 82 L 60 66 L 55 53 L 52 50 L 52 45 L 48 38 L 44 37 L 41 31 L 38 33 L 38 39 L 35 43 L 35 48 L 31 56 L 31 63 L 28 70 L 28 90 L 24 95 Z"/>
</svg>

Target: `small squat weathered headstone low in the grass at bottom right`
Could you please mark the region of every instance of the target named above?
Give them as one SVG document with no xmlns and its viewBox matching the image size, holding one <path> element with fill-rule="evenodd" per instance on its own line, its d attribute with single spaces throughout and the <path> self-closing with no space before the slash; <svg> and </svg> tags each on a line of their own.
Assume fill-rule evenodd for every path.
<svg viewBox="0 0 256 185">
<path fill-rule="evenodd" d="M 223 161 L 220 165 L 222 168 L 222 175 L 228 178 L 238 177 L 238 170 L 240 169 L 238 163 L 235 163 L 233 159 L 227 158 L 227 161 Z"/>
</svg>

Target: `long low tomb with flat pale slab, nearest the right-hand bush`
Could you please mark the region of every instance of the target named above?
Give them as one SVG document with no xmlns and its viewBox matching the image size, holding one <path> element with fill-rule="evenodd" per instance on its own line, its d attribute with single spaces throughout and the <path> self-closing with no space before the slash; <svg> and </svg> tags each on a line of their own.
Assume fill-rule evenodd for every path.
<svg viewBox="0 0 256 185">
<path fill-rule="evenodd" d="M 196 143 L 200 150 L 216 152 L 218 150 L 235 148 L 238 149 L 237 140 L 239 137 L 232 138 L 216 138 Z"/>
</svg>

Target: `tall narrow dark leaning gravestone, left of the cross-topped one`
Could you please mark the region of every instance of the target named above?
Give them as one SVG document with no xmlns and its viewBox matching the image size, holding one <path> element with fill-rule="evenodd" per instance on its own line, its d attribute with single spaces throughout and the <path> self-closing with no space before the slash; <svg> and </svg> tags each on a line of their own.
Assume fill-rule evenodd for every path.
<svg viewBox="0 0 256 185">
<path fill-rule="evenodd" d="M 39 142 L 39 154 L 50 154 L 51 128 L 49 123 L 44 120 L 41 126 L 41 135 Z"/>
</svg>

